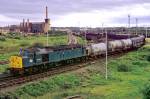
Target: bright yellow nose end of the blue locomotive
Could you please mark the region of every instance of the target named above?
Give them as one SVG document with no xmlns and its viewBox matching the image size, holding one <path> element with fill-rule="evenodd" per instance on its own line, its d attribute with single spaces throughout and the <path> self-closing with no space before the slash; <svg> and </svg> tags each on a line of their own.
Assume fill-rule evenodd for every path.
<svg viewBox="0 0 150 99">
<path fill-rule="evenodd" d="M 11 56 L 10 59 L 10 67 L 11 68 L 22 68 L 22 57 L 19 56 Z"/>
</svg>

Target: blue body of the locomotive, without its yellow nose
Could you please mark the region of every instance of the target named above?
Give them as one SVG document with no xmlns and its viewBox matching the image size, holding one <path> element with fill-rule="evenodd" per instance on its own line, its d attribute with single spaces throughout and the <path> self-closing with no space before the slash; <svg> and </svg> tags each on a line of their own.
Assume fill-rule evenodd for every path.
<svg viewBox="0 0 150 99">
<path fill-rule="evenodd" d="M 61 46 L 29 48 L 22 54 L 22 68 L 29 68 L 46 63 L 54 63 L 86 56 L 86 49 L 83 46 Z M 17 67 L 15 67 L 17 68 Z"/>
</svg>

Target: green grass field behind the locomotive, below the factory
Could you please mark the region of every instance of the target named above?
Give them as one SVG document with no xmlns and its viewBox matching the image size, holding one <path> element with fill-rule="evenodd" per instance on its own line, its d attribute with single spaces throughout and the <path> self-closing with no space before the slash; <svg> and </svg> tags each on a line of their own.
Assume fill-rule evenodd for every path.
<svg viewBox="0 0 150 99">
<path fill-rule="evenodd" d="M 28 36 L 20 37 L 20 39 L 5 38 L 5 41 L 0 41 L 0 61 L 9 60 L 12 55 L 17 55 L 20 48 L 26 48 L 32 46 L 35 43 L 41 43 L 44 46 L 47 44 L 46 36 Z M 49 46 L 67 44 L 67 35 L 49 36 Z M 78 38 L 80 44 L 84 43 L 84 40 Z M 0 65 L 0 72 L 4 72 L 8 65 Z"/>
</svg>

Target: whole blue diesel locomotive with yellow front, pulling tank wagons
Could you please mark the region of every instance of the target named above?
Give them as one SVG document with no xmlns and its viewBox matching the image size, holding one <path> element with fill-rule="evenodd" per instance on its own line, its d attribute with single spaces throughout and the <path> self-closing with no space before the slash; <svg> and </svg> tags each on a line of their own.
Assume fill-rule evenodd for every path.
<svg viewBox="0 0 150 99">
<path fill-rule="evenodd" d="M 86 56 L 86 49 L 81 45 L 57 46 L 44 48 L 29 48 L 24 50 L 21 55 L 10 58 L 11 72 L 23 73 L 34 72 L 39 69 L 48 69 L 56 66 L 56 63 Z"/>
</svg>

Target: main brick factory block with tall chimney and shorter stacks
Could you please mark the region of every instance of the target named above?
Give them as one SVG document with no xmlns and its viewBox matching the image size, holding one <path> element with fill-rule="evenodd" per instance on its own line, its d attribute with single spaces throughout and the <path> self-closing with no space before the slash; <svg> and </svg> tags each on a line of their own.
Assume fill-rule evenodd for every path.
<svg viewBox="0 0 150 99">
<path fill-rule="evenodd" d="M 23 33 L 47 33 L 50 29 L 50 19 L 48 18 L 48 7 L 46 7 L 46 18 L 44 22 L 30 22 L 29 19 L 20 23 L 20 32 Z"/>
</svg>

